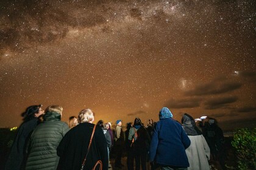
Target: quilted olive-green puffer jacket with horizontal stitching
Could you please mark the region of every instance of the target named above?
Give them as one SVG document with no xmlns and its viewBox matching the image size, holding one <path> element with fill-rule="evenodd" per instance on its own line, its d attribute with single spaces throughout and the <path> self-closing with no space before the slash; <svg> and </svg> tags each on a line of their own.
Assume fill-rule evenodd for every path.
<svg viewBox="0 0 256 170">
<path fill-rule="evenodd" d="M 38 124 L 30 137 L 26 169 L 56 169 L 59 162 L 56 149 L 68 131 L 68 124 L 60 121 L 60 114 L 44 114 L 44 121 Z"/>
</svg>

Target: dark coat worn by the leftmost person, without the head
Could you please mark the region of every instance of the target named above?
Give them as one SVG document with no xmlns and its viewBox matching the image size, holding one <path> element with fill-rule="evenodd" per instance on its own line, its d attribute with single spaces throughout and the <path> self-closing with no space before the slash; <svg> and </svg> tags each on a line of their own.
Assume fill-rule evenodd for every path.
<svg viewBox="0 0 256 170">
<path fill-rule="evenodd" d="M 6 170 L 20 170 L 24 169 L 26 163 L 26 146 L 29 140 L 30 134 L 35 129 L 39 120 L 37 117 L 33 117 L 28 121 L 25 121 L 18 129 L 15 140 L 10 150 L 10 155 L 5 165 Z"/>
</svg>

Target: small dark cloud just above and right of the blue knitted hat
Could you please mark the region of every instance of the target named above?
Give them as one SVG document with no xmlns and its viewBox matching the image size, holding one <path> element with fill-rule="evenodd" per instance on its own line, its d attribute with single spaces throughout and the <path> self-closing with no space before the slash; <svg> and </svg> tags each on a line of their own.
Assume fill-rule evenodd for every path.
<svg viewBox="0 0 256 170">
<path fill-rule="evenodd" d="M 171 98 L 165 103 L 165 106 L 169 108 L 193 108 L 200 106 L 200 101 L 201 98 L 184 98 L 180 100 Z"/>
</svg>

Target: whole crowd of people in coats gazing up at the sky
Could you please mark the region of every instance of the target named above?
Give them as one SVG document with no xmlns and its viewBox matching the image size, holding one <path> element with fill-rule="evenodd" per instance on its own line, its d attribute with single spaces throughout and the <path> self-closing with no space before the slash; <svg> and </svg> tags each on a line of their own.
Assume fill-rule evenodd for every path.
<svg viewBox="0 0 256 170">
<path fill-rule="evenodd" d="M 42 105 L 27 107 L 5 169 L 211 169 L 209 160 L 224 166 L 224 137 L 214 118 L 194 119 L 185 113 L 181 123 L 163 107 L 159 121 L 147 124 L 136 117 L 126 124 L 99 120 L 94 124 L 91 109 L 61 121 L 63 108 Z M 40 118 L 41 117 L 41 118 Z M 115 154 L 112 154 L 115 152 Z M 127 161 L 121 158 L 126 152 Z M 110 154 L 115 155 L 113 166 Z"/>
</svg>

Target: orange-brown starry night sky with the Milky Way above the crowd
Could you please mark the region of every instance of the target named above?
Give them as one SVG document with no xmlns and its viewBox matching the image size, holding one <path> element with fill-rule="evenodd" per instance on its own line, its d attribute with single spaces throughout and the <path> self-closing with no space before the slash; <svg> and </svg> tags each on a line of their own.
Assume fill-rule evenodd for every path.
<svg viewBox="0 0 256 170">
<path fill-rule="evenodd" d="M 26 107 L 256 123 L 255 0 L 1 0 L 0 127 Z"/>
</svg>

